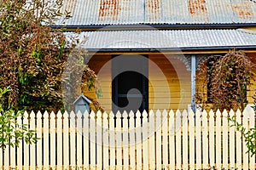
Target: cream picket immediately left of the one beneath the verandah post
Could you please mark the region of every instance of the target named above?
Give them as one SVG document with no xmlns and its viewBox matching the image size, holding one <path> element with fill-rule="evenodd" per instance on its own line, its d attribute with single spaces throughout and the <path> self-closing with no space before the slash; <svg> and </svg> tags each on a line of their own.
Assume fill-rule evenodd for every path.
<svg viewBox="0 0 256 170">
<path fill-rule="evenodd" d="M 183 127 L 183 169 L 189 169 L 189 149 L 188 149 L 188 112 L 186 110 L 182 113 L 182 127 Z"/>
</svg>

